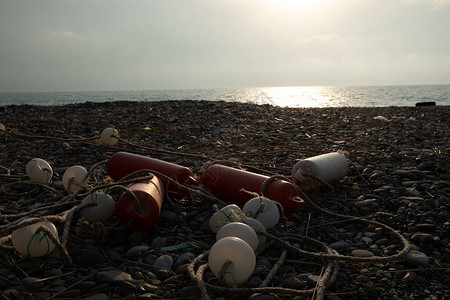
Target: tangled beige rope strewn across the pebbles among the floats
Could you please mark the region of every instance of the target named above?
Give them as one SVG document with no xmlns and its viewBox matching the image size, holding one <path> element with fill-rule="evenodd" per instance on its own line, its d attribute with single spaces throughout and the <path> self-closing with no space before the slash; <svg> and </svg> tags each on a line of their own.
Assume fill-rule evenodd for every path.
<svg viewBox="0 0 450 300">
<path fill-rule="evenodd" d="M 39 139 L 45 138 L 45 139 L 53 139 L 53 140 L 60 140 L 60 141 L 61 140 L 64 140 L 64 141 L 88 141 L 88 140 L 95 140 L 95 139 L 99 138 L 98 136 L 95 136 L 95 137 L 86 138 L 86 139 L 63 139 L 63 138 L 58 138 L 58 137 L 46 137 L 46 136 L 39 136 L 39 135 L 20 134 L 20 133 L 11 131 L 11 130 L 5 130 L 5 133 L 11 134 L 11 135 L 16 135 L 19 137 L 39 138 Z M 156 147 L 146 147 L 146 146 L 136 145 L 134 143 L 131 143 L 127 140 L 124 140 L 124 139 L 121 139 L 118 137 L 116 137 L 116 138 L 119 141 L 124 142 L 127 145 L 130 145 L 133 147 L 138 147 L 138 148 L 149 150 L 149 151 L 157 151 L 157 152 L 162 152 L 162 153 L 167 153 L 167 154 L 184 155 L 184 156 L 191 156 L 191 157 L 196 157 L 196 158 L 201 158 L 201 159 L 208 159 L 208 157 L 206 157 L 205 155 L 175 152 L 175 151 L 160 149 L 160 148 L 156 148 Z M 10 236 L 8 236 L 8 234 L 10 234 L 13 230 L 15 230 L 19 227 L 22 227 L 25 225 L 31 225 L 36 222 L 42 221 L 42 220 L 54 221 L 54 222 L 64 222 L 61 240 L 59 240 L 52 232 L 50 232 L 47 228 L 45 228 L 43 226 L 39 227 L 38 230 L 36 231 L 36 233 L 41 232 L 41 231 L 44 232 L 56 245 L 57 249 L 62 254 L 62 257 L 64 258 L 66 263 L 71 263 L 71 258 L 67 251 L 67 240 L 69 237 L 70 227 L 71 227 L 71 224 L 73 223 L 73 220 L 76 218 L 76 216 L 83 209 L 86 209 L 89 207 L 89 205 L 80 207 L 80 200 L 75 200 L 75 198 L 80 194 L 80 192 L 84 188 L 83 184 L 89 179 L 90 176 L 92 176 L 94 170 L 96 170 L 99 166 L 101 166 L 105 162 L 106 161 L 101 161 L 101 162 L 95 164 L 94 166 L 92 166 L 91 169 L 89 170 L 89 172 L 83 178 L 82 183 L 77 187 L 77 189 L 73 193 L 71 193 L 67 196 L 63 196 L 58 191 L 56 191 L 48 186 L 45 186 L 45 185 L 34 184 L 34 183 L 29 183 L 29 182 L 20 183 L 20 184 L 33 184 L 37 188 L 42 187 L 44 189 L 47 189 L 47 190 L 53 192 L 61 199 L 56 204 L 44 205 L 44 206 L 37 208 L 31 212 L 19 213 L 19 214 L 15 214 L 15 215 L 1 215 L 0 220 L 2 222 L 7 222 L 7 224 L 0 225 L 0 235 L 4 236 L 3 238 L 0 239 L 0 246 L 7 248 L 5 243 L 7 241 L 9 241 L 9 239 L 10 239 Z M 207 166 L 209 166 L 211 164 L 222 163 L 222 162 L 224 162 L 224 161 L 214 161 L 212 163 L 205 164 L 204 167 L 202 167 L 202 170 L 200 172 L 204 171 L 207 168 Z M 228 163 L 230 163 L 230 162 L 228 162 Z M 242 165 L 242 164 L 239 164 L 236 162 L 231 162 L 231 163 L 234 166 L 238 166 L 238 167 L 246 166 L 246 165 Z M 246 166 L 246 167 L 248 167 L 248 166 Z M 252 168 L 255 168 L 255 167 L 252 167 Z M 356 166 L 355 166 L 355 168 L 356 168 Z M 12 176 L 17 176 L 17 175 L 11 175 L 9 169 L 7 169 L 7 168 L 2 167 L 2 169 L 4 169 L 6 171 L 6 174 L 0 174 L 2 177 L 11 177 L 12 178 Z M 134 200 L 135 208 L 137 211 L 139 211 L 139 209 L 140 209 L 139 200 L 125 186 L 132 184 L 132 183 L 136 183 L 136 182 L 148 181 L 151 178 L 153 178 L 153 176 L 158 176 L 158 177 L 164 178 L 165 180 L 171 182 L 172 184 L 176 185 L 180 189 L 184 189 L 191 193 L 197 194 L 201 197 L 210 199 L 219 205 L 222 205 L 222 206 L 227 205 L 220 199 L 217 199 L 213 195 L 209 194 L 207 191 L 205 191 L 201 187 L 183 186 L 183 185 L 179 184 L 178 182 L 176 182 L 175 180 L 173 180 L 172 178 L 170 178 L 164 174 L 161 174 L 159 172 L 155 172 L 153 170 L 140 170 L 140 171 L 137 171 L 133 174 L 130 174 L 130 175 L 122 178 L 121 180 L 119 180 L 115 183 L 101 184 L 101 185 L 95 186 L 92 188 L 90 193 L 94 193 L 98 190 L 114 190 L 114 189 L 122 190 L 122 191 L 128 193 L 129 196 Z M 24 176 L 21 176 L 21 177 L 24 177 Z M 363 177 L 361 176 L 361 178 L 363 178 Z M 314 178 L 314 179 L 316 179 L 316 178 Z M 267 186 L 275 180 L 285 180 L 285 181 L 292 183 L 292 181 L 285 176 L 282 176 L 282 175 L 271 176 L 261 186 L 259 195 L 262 196 L 264 194 L 265 188 L 267 188 Z M 4 194 L 7 194 L 7 195 L 25 195 L 25 194 L 14 194 L 7 190 L 7 188 L 14 187 L 15 184 L 18 184 L 18 183 L 11 183 L 11 184 L 2 186 L 1 192 L 3 192 Z M 409 245 L 408 241 L 400 233 L 398 233 L 391 227 L 389 227 L 381 222 L 368 220 L 368 219 L 364 219 L 364 218 L 356 218 L 353 216 L 342 215 L 342 214 L 337 214 L 337 213 L 328 211 L 326 209 L 319 207 L 316 203 L 314 203 L 312 200 L 310 200 L 310 198 L 300 188 L 298 188 L 298 191 L 299 191 L 300 195 L 302 196 L 302 198 L 313 209 L 316 209 L 321 213 L 324 213 L 324 214 L 327 214 L 327 215 L 330 215 L 333 217 L 341 218 L 348 222 L 362 222 L 364 224 L 375 225 L 375 226 L 383 228 L 384 230 L 390 232 L 393 236 L 395 236 L 395 238 L 397 240 L 400 241 L 400 243 L 402 244 L 402 249 L 397 254 L 386 256 L 386 257 L 380 257 L 380 256 L 354 257 L 354 256 L 341 255 L 341 254 L 337 253 L 335 250 L 329 248 L 326 244 L 324 244 L 318 240 L 315 240 L 313 238 L 307 237 L 307 236 L 303 236 L 303 235 L 283 236 L 279 232 L 277 232 L 276 235 L 271 234 L 271 233 L 258 232 L 258 234 L 265 236 L 266 238 L 270 239 L 272 242 L 274 242 L 282 247 L 282 253 L 280 255 L 279 260 L 273 266 L 273 268 L 270 270 L 270 272 L 268 273 L 266 278 L 262 281 L 260 286 L 257 288 L 228 287 L 228 286 L 214 285 L 214 284 L 205 282 L 203 280 L 204 272 L 209 267 L 208 263 L 204 263 L 204 261 L 207 259 L 207 256 L 209 254 L 209 252 L 206 251 L 206 252 L 198 255 L 188 266 L 188 275 L 192 280 L 194 280 L 197 283 L 197 286 L 199 287 L 199 289 L 201 291 L 203 299 L 210 299 L 208 292 L 217 292 L 217 293 L 222 293 L 222 294 L 239 294 L 239 295 L 250 295 L 253 293 L 276 293 L 279 295 L 290 295 L 290 296 L 305 296 L 305 295 L 311 296 L 312 295 L 312 297 L 315 299 L 323 299 L 323 297 L 325 296 L 326 288 L 334 283 L 334 281 L 339 273 L 339 263 L 340 262 L 357 262 L 357 263 L 389 262 L 389 261 L 401 260 L 408 253 L 408 251 L 410 249 L 410 245 Z M 31 193 L 31 192 L 26 192 L 26 193 Z M 94 204 L 91 204 L 91 205 L 94 205 Z M 38 220 L 34 220 L 32 223 L 29 223 L 29 224 L 22 223 L 19 225 L 19 223 L 21 221 L 23 221 L 30 215 L 37 216 Z M 317 248 L 320 251 L 319 252 L 306 251 L 306 250 L 303 250 L 300 247 L 296 246 L 295 244 L 292 244 L 290 241 L 298 242 L 300 244 L 308 244 L 310 246 Z M 307 289 L 307 290 L 297 290 L 297 289 L 291 289 L 291 288 L 269 286 L 274 275 L 277 273 L 280 266 L 283 265 L 283 263 L 285 262 L 285 259 L 288 255 L 294 255 L 295 257 L 300 256 L 303 258 L 320 260 L 326 264 L 326 266 L 324 266 L 323 272 L 321 273 L 321 275 L 319 277 L 319 280 L 317 281 L 316 287 L 314 287 L 313 289 Z"/>
</svg>

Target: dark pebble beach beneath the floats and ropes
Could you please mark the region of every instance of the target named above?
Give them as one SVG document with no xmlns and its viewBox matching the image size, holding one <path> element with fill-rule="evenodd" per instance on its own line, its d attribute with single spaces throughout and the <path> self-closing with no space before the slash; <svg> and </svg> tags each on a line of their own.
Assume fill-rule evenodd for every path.
<svg viewBox="0 0 450 300">
<path fill-rule="evenodd" d="M 189 100 L 1 107 L 0 298 L 448 299 L 449 116 L 450 106 L 282 108 Z M 107 127 L 120 134 L 113 146 L 99 142 Z M 301 159 L 341 152 L 350 162 L 347 175 L 304 192 L 313 204 L 306 201 L 268 230 L 294 248 L 320 254 L 317 245 L 324 244 L 335 256 L 302 255 L 269 236 L 245 284 L 227 286 L 208 268 L 193 278 L 191 268 L 206 263 L 195 259 L 215 242 L 208 220 L 220 206 L 195 191 L 165 199 L 157 223 L 144 232 L 127 230 L 115 216 L 89 223 L 75 214 L 69 224 L 67 212 L 90 189 L 112 181 L 101 162 L 119 151 L 194 174 L 205 163 L 226 161 L 288 178 Z M 53 168 L 47 187 L 25 175 L 33 158 Z M 70 197 L 64 171 L 96 164 L 88 187 Z M 117 200 L 120 193 L 111 195 Z M 18 253 L 10 235 L 30 217 L 52 220 L 61 240 L 66 233 L 67 253 Z M 330 264 L 333 275 L 323 280 Z"/>
</svg>

